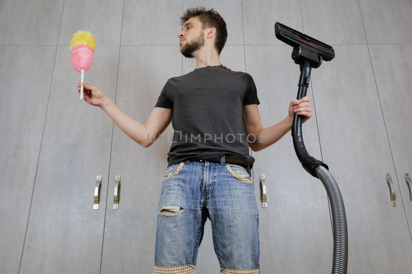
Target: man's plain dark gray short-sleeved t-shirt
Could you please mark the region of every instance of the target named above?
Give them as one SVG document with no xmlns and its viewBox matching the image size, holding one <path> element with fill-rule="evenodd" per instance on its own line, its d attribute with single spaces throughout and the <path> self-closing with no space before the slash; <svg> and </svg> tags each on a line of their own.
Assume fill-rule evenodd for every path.
<svg viewBox="0 0 412 274">
<path fill-rule="evenodd" d="M 248 104 L 260 104 L 252 76 L 222 64 L 169 78 L 155 105 L 173 109 L 168 166 L 225 154 L 249 155 L 242 118 L 243 105 Z M 245 165 L 249 173 L 252 167 Z"/>
</svg>

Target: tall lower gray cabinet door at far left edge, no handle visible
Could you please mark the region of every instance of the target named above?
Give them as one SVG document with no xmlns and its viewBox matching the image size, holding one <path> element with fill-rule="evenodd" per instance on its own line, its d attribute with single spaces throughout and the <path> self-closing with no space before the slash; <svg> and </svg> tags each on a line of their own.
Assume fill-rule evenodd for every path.
<svg viewBox="0 0 412 274">
<path fill-rule="evenodd" d="M 0 273 L 18 273 L 56 47 L 0 46 Z"/>
</svg>

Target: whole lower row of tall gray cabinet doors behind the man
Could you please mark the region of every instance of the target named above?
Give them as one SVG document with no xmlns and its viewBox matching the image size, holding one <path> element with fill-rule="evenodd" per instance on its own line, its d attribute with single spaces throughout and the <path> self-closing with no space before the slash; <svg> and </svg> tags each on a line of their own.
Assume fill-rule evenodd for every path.
<svg viewBox="0 0 412 274">
<path fill-rule="evenodd" d="M 372 62 L 367 45 L 333 47 L 335 59 L 312 70 L 308 95 L 314 117 L 303 124 L 305 145 L 328 164 L 342 192 L 348 273 L 407 273 L 412 269 L 412 206 L 404 178 L 412 172 L 411 45 L 369 45 Z M 283 120 L 297 93 L 299 67 L 290 59 L 291 48 L 225 49 L 222 63 L 254 78 L 264 127 Z M 0 46 L 0 51 L 1 63 L 11 64 L 0 67 L 0 272 L 151 273 L 170 139 L 145 149 L 100 108 L 79 101 L 73 83 L 79 75 L 67 69 L 66 46 L 57 47 L 54 67 L 55 52 L 44 46 Z M 236 58 L 243 53 L 244 60 Z M 166 80 L 195 65 L 183 60 L 178 46 L 101 46 L 95 54 L 94 73 L 86 73 L 85 81 L 96 83 L 139 122 L 147 120 Z M 13 78 L 17 73 L 28 76 Z M 13 97 L 8 87 L 14 87 Z M 172 134 L 170 125 L 164 135 Z M 328 197 L 321 181 L 297 161 L 290 131 L 252 155 L 261 273 L 329 272 Z M 260 174 L 267 208 L 260 202 Z M 97 175 L 102 182 L 94 210 Z M 121 177 L 118 209 L 113 208 L 116 175 Z M 197 273 L 218 270 L 206 221 Z"/>
</svg>

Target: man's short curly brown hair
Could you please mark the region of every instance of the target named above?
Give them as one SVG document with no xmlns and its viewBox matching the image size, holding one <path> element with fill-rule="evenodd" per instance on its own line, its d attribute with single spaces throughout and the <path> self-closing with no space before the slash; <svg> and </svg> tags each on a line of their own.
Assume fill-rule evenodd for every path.
<svg viewBox="0 0 412 274">
<path fill-rule="evenodd" d="M 215 48 L 220 56 L 220 52 L 226 44 L 227 30 L 226 22 L 222 16 L 213 8 L 207 10 L 205 7 L 188 8 L 183 16 L 180 16 L 180 25 L 183 27 L 185 22 L 191 17 L 197 17 L 202 24 L 202 30 L 206 28 L 216 28 Z"/>
</svg>

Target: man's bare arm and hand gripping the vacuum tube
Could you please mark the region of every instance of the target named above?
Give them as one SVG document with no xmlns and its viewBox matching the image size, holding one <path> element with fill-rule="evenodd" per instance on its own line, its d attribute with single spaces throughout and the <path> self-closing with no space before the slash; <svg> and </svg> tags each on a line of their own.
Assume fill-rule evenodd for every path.
<svg viewBox="0 0 412 274">
<path fill-rule="evenodd" d="M 266 128 L 263 128 L 258 105 L 244 105 L 243 124 L 245 125 L 246 136 L 250 134 L 248 137 L 249 147 L 253 151 L 259 151 L 279 141 L 291 130 L 293 115 L 295 113 L 304 116 L 302 124 L 309 120 L 309 118 L 312 117 L 313 111 L 309 100 L 309 96 L 305 96 L 299 101 L 297 99 L 290 101 L 288 116 L 281 122 Z"/>
</svg>

